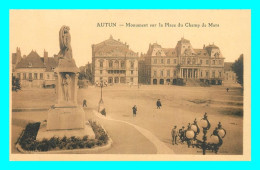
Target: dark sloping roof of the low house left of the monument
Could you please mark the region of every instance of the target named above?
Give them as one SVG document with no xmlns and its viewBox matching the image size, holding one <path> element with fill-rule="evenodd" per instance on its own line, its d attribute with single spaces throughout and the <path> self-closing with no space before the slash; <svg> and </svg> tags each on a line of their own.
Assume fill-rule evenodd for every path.
<svg viewBox="0 0 260 170">
<path fill-rule="evenodd" d="M 30 54 L 22 58 L 22 60 L 17 64 L 16 68 L 45 68 L 44 63 L 41 60 L 41 57 L 36 51 L 31 51 Z"/>
</svg>

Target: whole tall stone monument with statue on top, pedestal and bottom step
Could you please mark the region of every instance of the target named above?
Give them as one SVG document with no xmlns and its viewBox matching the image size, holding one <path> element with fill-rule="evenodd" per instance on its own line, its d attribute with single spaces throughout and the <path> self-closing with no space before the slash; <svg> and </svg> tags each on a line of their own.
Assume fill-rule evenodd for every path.
<svg viewBox="0 0 260 170">
<path fill-rule="evenodd" d="M 54 70 L 57 101 L 48 111 L 47 123 L 40 125 L 36 137 L 39 141 L 64 136 L 95 138 L 89 122 L 85 120 L 83 108 L 77 104 L 79 69 L 72 57 L 69 30 L 68 26 L 62 26 L 59 32 L 59 63 Z"/>
</svg>

